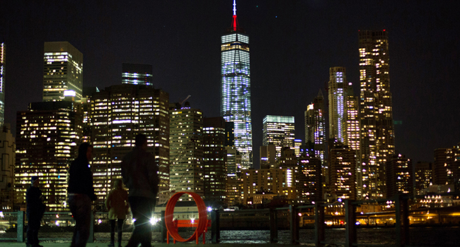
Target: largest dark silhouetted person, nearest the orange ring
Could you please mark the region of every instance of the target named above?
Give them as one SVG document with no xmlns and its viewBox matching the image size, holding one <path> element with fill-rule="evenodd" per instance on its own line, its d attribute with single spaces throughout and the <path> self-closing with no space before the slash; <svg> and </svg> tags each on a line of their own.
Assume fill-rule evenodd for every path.
<svg viewBox="0 0 460 247">
<path fill-rule="evenodd" d="M 158 193 L 159 167 L 155 157 L 147 152 L 147 137 L 139 134 L 135 138 L 136 146 L 122 159 L 123 182 L 130 191 L 128 200 L 132 211 L 134 231 L 127 247 L 151 247 L 151 212 L 156 204 Z"/>
</svg>

